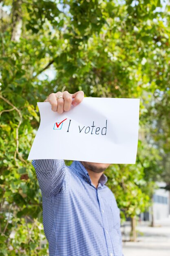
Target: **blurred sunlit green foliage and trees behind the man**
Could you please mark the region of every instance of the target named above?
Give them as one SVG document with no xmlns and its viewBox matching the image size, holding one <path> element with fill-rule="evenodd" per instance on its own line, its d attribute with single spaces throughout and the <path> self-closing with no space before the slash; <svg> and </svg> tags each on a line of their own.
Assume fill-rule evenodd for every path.
<svg viewBox="0 0 170 256">
<path fill-rule="evenodd" d="M 170 4 L 0 0 L 0 256 L 46 256 L 41 193 L 27 161 L 51 92 L 140 98 L 135 165 L 106 175 L 122 220 L 170 187 Z"/>
</svg>

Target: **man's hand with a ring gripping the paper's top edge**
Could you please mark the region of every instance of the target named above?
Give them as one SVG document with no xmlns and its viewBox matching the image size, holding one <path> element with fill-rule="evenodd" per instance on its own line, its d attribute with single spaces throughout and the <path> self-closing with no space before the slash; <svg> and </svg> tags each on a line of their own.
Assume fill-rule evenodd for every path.
<svg viewBox="0 0 170 256">
<path fill-rule="evenodd" d="M 62 114 L 64 111 L 69 111 L 71 105 L 77 106 L 80 102 L 82 102 L 83 98 L 83 91 L 75 92 L 74 94 L 70 94 L 69 92 L 65 91 L 51 93 L 44 102 L 49 102 L 51 104 L 51 110 Z"/>
</svg>

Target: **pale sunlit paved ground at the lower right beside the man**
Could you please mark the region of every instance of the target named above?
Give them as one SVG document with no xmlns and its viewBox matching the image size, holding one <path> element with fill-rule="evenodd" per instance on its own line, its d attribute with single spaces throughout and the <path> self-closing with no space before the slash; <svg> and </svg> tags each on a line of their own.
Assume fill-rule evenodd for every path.
<svg viewBox="0 0 170 256">
<path fill-rule="evenodd" d="M 138 242 L 123 242 L 124 256 L 170 256 L 170 219 L 155 224 L 156 227 L 149 227 L 148 223 L 138 225 Z M 130 227 L 127 225 L 122 231 L 123 240 L 128 240 Z"/>
</svg>

